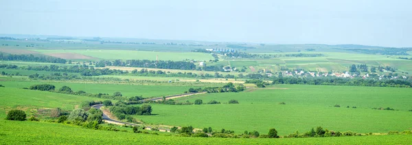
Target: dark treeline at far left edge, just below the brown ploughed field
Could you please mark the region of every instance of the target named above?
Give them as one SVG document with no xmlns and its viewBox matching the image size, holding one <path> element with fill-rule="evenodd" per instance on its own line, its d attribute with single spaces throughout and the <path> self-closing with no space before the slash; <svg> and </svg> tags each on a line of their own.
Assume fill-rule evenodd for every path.
<svg viewBox="0 0 412 145">
<path fill-rule="evenodd" d="M 66 63 L 62 58 L 55 58 L 52 56 L 34 56 L 33 54 L 3 54 L 0 52 L 0 60 L 10 61 L 28 61 L 38 63 Z"/>
</svg>

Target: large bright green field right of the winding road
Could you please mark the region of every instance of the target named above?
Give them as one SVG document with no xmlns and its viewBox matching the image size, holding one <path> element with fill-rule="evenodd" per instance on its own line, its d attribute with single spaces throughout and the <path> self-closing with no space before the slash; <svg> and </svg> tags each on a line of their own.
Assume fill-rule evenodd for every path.
<svg viewBox="0 0 412 145">
<path fill-rule="evenodd" d="M 135 118 L 154 124 L 192 125 L 198 129 L 211 126 L 236 133 L 276 128 L 282 135 L 309 131 L 316 126 L 357 133 L 387 133 L 412 128 L 409 124 L 412 115 L 408 111 L 412 109 L 411 89 L 281 85 L 241 93 L 210 93 L 179 101 L 194 102 L 196 99 L 222 103 L 235 99 L 240 104 L 157 104 L 153 105 L 153 113 L 159 115 Z M 335 104 L 341 107 L 334 107 Z M 391 107 L 399 111 L 374 110 L 374 107 Z"/>
</svg>

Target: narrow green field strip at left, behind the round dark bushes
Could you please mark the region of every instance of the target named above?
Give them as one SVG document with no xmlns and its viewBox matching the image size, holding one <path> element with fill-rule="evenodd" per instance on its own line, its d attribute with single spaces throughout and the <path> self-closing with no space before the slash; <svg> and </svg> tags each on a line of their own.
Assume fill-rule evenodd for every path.
<svg viewBox="0 0 412 145">
<path fill-rule="evenodd" d="M 78 82 L 34 82 L 34 81 L 1 81 L 1 85 L 12 88 L 30 87 L 38 84 L 52 84 L 56 89 L 66 85 L 73 91 L 86 91 L 87 93 L 108 93 L 113 94 L 120 91 L 124 96 L 143 96 L 145 98 L 155 96 L 168 96 L 183 93 L 190 87 L 173 85 L 119 85 L 119 84 L 95 84 Z"/>
</svg>

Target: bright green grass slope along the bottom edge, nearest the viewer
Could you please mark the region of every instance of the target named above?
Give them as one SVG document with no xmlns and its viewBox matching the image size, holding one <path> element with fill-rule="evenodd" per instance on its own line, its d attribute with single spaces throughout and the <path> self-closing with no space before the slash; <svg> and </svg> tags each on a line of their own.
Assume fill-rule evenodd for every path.
<svg viewBox="0 0 412 145">
<path fill-rule="evenodd" d="M 0 144 L 412 144 L 411 135 L 295 139 L 198 138 L 96 131 L 65 124 L 5 120 L 0 120 L 0 138 Z"/>
</svg>

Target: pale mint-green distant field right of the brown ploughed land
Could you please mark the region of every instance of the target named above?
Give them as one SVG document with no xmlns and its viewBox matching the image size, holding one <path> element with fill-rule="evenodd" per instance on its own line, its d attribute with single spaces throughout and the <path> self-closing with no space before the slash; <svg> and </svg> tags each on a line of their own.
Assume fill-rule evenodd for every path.
<svg viewBox="0 0 412 145">
<path fill-rule="evenodd" d="M 196 52 L 146 52 L 146 51 L 134 51 L 134 50 L 114 50 L 114 49 L 76 49 L 76 50 L 65 50 L 65 49 L 35 49 L 36 52 L 41 52 L 47 55 L 54 54 L 82 54 L 84 56 L 91 56 L 93 58 L 100 58 L 106 60 L 131 60 L 131 59 L 147 59 L 156 60 L 156 56 L 159 56 L 159 60 L 214 60 L 210 54 L 196 53 Z"/>
</svg>

